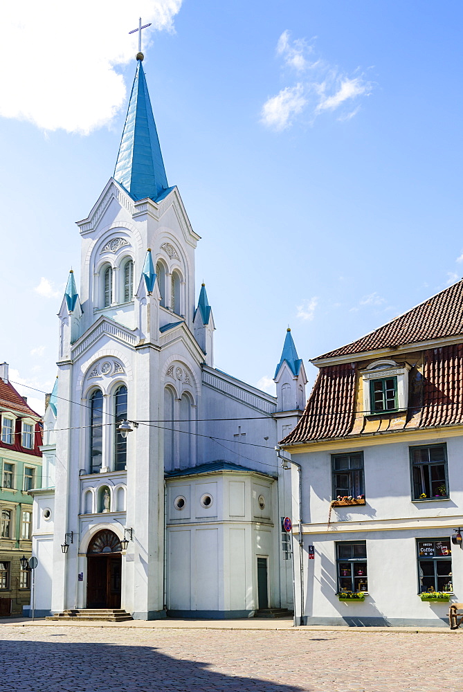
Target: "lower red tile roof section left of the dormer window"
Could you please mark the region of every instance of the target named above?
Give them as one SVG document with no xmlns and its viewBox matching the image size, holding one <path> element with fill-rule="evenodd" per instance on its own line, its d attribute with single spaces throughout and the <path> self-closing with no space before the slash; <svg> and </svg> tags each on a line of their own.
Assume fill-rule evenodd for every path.
<svg viewBox="0 0 463 692">
<path fill-rule="evenodd" d="M 354 423 L 355 367 L 322 367 L 305 411 L 283 444 L 348 435 Z"/>
</svg>

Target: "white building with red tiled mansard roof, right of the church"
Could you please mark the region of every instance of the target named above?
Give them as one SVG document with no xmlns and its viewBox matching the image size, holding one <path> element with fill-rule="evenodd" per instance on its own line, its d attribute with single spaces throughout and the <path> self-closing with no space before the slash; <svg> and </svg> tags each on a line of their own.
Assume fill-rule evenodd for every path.
<svg viewBox="0 0 463 692">
<path fill-rule="evenodd" d="M 463 601 L 463 280 L 311 362 L 314 389 L 280 443 L 302 473 L 298 612 L 442 626 Z"/>
</svg>

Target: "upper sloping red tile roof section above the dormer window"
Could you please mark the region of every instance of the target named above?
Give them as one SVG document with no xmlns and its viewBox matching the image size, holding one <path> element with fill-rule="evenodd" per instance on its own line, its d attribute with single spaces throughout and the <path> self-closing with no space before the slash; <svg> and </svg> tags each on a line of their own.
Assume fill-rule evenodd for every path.
<svg viewBox="0 0 463 692">
<path fill-rule="evenodd" d="M 370 334 L 318 358 L 334 358 L 459 334 L 463 334 L 463 280 Z"/>
</svg>

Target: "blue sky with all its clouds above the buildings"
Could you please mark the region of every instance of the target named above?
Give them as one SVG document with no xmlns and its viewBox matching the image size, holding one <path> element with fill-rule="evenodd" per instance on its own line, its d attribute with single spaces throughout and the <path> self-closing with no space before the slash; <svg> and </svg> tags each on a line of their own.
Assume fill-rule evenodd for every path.
<svg viewBox="0 0 463 692">
<path fill-rule="evenodd" d="M 273 393 L 289 325 L 308 394 L 309 358 L 462 276 L 459 0 L 6 4 L 0 361 L 38 412 L 69 268 L 79 278 L 74 222 L 114 171 L 139 16 L 217 367 Z"/>
</svg>

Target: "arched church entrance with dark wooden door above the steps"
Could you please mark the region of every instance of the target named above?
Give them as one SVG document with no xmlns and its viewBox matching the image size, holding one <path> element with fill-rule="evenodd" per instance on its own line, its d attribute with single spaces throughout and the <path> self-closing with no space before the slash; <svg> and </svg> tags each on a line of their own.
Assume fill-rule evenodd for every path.
<svg viewBox="0 0 463 692">
<path fill-rule="evenodd" d="M 98 531 L 87 550 L 87 608 L 120 608 L 120 540 L 109 529 Z"/>
</svg>

